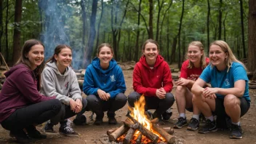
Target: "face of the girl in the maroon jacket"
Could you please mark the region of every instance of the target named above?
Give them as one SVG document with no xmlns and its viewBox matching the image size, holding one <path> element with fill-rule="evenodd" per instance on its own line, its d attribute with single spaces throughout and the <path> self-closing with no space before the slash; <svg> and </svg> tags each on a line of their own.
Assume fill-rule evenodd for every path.
<svg viewBox="0 0 256 144">
<path fill-rule="evenodd" d="M 34 45 L 25 57 L 28 57 L 32 70 L 36 69 L 44 61 L 44 47 L 41 44 Z"/>
</svg>

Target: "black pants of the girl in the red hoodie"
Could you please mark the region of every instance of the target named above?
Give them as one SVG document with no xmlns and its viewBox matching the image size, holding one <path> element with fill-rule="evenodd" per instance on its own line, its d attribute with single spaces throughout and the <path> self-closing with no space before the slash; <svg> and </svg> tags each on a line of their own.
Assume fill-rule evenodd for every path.
<svg viewBox="0 0 256 144">
<path fill-rule="evenodd" d="M 135 107 L 135 101 L 139 100 L 140 94 L 137 92 L 132 92 L 128 95 L 128 103 L 130 106 Z M 173 103 L 175 103 L 175 97 L 171 92 L 167 92 L 164 99 L 159 99 L 159 97 L 145 97 L 145 110 L 155 109 L 158 116 L 167 111 Z"/>
</svg>

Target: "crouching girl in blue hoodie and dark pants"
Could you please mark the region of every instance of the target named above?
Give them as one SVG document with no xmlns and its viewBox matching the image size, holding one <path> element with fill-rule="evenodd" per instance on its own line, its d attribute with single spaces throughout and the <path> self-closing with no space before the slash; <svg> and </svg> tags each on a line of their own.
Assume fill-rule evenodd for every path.
<svg viewBox="0 0 256 144">
<path fill-rule="evenodd" d="M 124 74 L 116 60 L 113 49 L 103 43 L 97 49 L 97 57 L 88 65 L 84 75 L 83 91 L 87 95 L 87 108 L 96 113 L 95 123 L 103 123 L 104 111 L 108 111 L 108 124 L 116 124 L 115 111 L 127 103 Z"/>
</svg>

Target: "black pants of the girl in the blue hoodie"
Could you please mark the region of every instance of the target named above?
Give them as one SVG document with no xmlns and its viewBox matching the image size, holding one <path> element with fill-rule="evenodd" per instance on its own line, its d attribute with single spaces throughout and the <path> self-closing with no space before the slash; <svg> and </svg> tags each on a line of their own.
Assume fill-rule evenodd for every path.
<svg viewBox="0 0 256 144">
<path fill-rule="evenodd" d="M 115 98 L 111 98 L 108 99 L 108 101 L 105 101 L 101 100 L 100 97 L 96 95 L 88 95 L 87 101 L 88 109 L 96 113 L 96 115 L 101 119 L 103 118 L 104 111 L 108 111 L 108 113 L 114 115 L 115 111 L 123 108 L 127 103 L 127 97 L 123 93 L 119 93 Z"/>
</svg>

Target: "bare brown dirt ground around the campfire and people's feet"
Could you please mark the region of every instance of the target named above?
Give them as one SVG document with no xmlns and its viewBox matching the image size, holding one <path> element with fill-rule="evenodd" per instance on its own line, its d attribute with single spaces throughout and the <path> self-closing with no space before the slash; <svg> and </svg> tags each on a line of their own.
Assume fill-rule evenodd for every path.
<svg viewBox="0 0 256 144">
<path fill-rule="evenodd" d="M 131 68 L 126 68 L 131 69 Z M 127 91 L 125 92 L 126 95 L 129 95 L 130 92 L 133 91 L 132 89 L 132 70 L 124 70 L 124 78 L 127 84 Z M 173 75 L 178 75 L 178 73 L 172 73 Z M 224 143 L 224 144 L 231 144 L 231 143 L 255 143 L 256 144 L 256 116 L 255 116 L 255 104 L 256 104 L 256 90 L 250 89 L 250 96 L 252 99 L 251 108 L 249 111 L 241 118 L 241 127 L 244 131 L 243 138 L 241 140 L 233 140 L 229 138 L 228 131 L 217 131 L 211 132 L 208 134 L 199 134 L 196 131 L 188 131 L 186 127 L 182 129 L 175 129 L 175 143 L 183 144 L 183 143 Z M 175 87 L 172 89 L 172 93 L 175 93 Z M 172 106 L 172 117 L 169 121 L 165 121 L 164 125 L 161 127 L 173 127 L 173 124 L 177 121 L 178 113 L 177 113 L 177 106 L 176 103 Z M 118 124 L 116 125 L 109 125 L 108 118 L 104 116 L 104 124 L 100 126 L 93 125 L 92 120 L 90 120 L 89 116 L 91 116 L 91 112 L 86 112 L 85 115 L 87 116 L 87 124 L 84 126 L 75 126 L 73 125 L 73 129 L 76 132 L 79 132 L 79 137 L 65 137 L 62 135 L 48 135 L 47 140 L 40 140 L 36 143 L 38 144 L 71 144 L 71 143 L 81 143 L 81 144 L 90 144 L 90 143 L 110 143 L 108 141 L 108 136 L 106 132 L 108 129 L 120 127 L 122 125 L 122 120 L 126 119 L 127 114 L 127 105 L 121 110 L 116 112 L 116 119 Z M 187 120 L 191 119 L 192 113 L 186 111 Z M 71 118 L 73 119 L 73 118 Z M 94 115 L 95 119 L 95 115 Z M 37 127 L 37 129 L 41 130 L 43 125 Z M 55 126 L 55 130 L 58 130 L 58 125 Z M 0 144 L 4 143 L 15 143 L 15 138 L 9 137 L 9 132 L 2 127 L 0 127 Z"/>
</svg>

